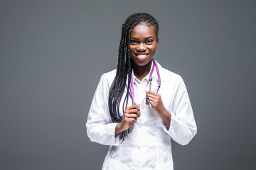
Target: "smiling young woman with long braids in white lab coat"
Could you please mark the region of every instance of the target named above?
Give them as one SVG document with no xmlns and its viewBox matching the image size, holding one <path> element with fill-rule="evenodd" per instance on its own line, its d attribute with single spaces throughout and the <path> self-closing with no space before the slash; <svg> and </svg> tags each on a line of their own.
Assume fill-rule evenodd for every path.
<svg viewBox="0 0 256 170">
<path fill-rule="evenodd" d="M 100 78 L 87 118 L 92 142 L 110 145 L 102 169 L 174 169 L 171 139 L 186 145 L 196 123 L 178 74 L 153 59 L 159 25 L 134 13 L 122 26 L 117 69 Z"/>
</svg>

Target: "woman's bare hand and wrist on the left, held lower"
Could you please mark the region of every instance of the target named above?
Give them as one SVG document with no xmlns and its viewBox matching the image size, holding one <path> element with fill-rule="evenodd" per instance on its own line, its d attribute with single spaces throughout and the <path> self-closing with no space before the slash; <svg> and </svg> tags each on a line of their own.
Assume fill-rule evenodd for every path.
<svg viewBox="0 0 256 170">
<path fill-rule="evenodd" d="M 115 128 L 114 136 L 119 135 L 121 132 L 124 132 L 124 130 L 128 130 L 132 123 L 137 122 L 139 116 L 139 104 L 126 108 L 122 122 L 118 123 Z"/>
</svg>

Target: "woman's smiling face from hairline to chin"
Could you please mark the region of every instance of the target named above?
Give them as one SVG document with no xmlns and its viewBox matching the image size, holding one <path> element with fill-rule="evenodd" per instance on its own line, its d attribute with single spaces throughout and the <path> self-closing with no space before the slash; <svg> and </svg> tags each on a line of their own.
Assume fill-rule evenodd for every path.
<svg viewBox="0 0 256 170">
<path fill-rule="evenodd" d="M 131 33 L 130 56 L 137 66 L 151 64 L 159 43 L 154 26 L 139 23 Z"/>
</svg>

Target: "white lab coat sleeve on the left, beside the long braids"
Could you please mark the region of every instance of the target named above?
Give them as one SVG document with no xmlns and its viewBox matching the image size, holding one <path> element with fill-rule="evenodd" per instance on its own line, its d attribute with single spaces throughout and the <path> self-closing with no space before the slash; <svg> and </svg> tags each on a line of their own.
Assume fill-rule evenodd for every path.
<svg viewBox="0 0 256 170">
<path fill-rule="evenodd" d="M 107 79 L 103 74 L 92 98 L 87 116 L 86 130 L 92 142 L 117 146 L 119 145 L 119 135 L 114 137 L 117 123 L 112 123 L 108 108 L 109 89 Z"/>
</svg>

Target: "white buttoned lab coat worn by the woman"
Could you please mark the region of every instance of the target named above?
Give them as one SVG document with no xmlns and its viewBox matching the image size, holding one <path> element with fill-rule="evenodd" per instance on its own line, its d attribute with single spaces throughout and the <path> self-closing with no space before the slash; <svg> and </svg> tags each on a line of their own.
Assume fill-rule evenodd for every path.
<svg viewBox="0 0 256 170">
<path fill-rule="evenodd" d="M 135 103 L 141 105 L 141 116 L 123 142 L 119 140 L 119 135 L 114 137 L 117 123 L 112 123 L 108 108 L 109 89 L 116 69 L 103 74 L 100 78 L 90 106 L 86 128 L 87 135 L 92 142 L 116 146 L 112 154 L 110 154 L 110 146 L 102 170 L 172 170 L 174 165 L 171 139 L 180 145 L 187 145 L 196 135 L 196 122 L 183 79 L 178 74 L 162 68 L 159 63 L 157 64 L 161 75 L 159 94 L 165 108 L 171 113 L 170 128 L 167 130 L 161 118 L 145 104 L 145 91 L 149 91 L 149 75 L 142 81 L 133 75 Z M 154 69 L 152 79 L 151 91 L 155 91 L 159 85 L 156 69 Z M 128 106 L 132 106 L 131 98 L 129 98 Z M 122 107 L 120 111 L 122 113 Z"/>
</svg>

